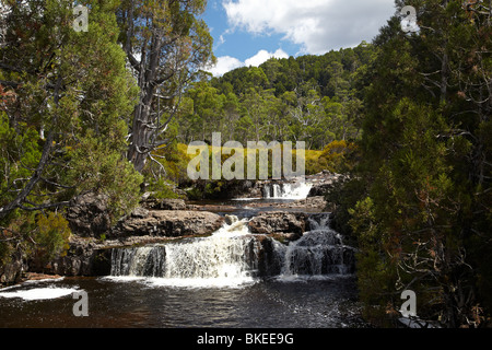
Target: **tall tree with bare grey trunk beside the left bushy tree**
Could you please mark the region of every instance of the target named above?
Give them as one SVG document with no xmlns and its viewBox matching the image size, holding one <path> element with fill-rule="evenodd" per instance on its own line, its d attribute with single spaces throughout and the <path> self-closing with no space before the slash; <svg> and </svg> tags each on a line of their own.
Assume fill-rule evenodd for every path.
<svg viewBox="0 0 492 350">
<path fill-rule="evenodd" d="M 120 43 L 140 88 L 127 154 L 138 172 L 148 158 L 155 161 L 153 150 L 169 142 L 165 132 L 184 88 L 213 61 L 212 37 L 198 19 L 204 8 L 203 0 L 121 1 Z"/>
</svg>

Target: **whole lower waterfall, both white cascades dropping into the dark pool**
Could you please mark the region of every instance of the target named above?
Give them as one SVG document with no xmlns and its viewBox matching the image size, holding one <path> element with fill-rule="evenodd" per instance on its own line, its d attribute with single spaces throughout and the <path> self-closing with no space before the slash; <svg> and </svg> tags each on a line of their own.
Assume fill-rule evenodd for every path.
<svg viewBox="0 0 492 350">
<path fill-rule="evenodd" d="M 232 219 L 209 237 L 114 249 L 112 276 L 153 278 L 166 285 L 232 287 L 259 277 L 288 280 L 353 272 L 354 249 L 329 228 L 329 213 L 312 214 L 309 231 L 289 245 L 251 234 L 248 219 Z"/>
</svg>

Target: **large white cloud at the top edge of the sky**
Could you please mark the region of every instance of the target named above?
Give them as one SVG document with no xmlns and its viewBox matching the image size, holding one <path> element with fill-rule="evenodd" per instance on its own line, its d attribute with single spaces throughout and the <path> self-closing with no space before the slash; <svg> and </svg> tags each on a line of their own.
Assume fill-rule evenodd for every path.
<svg viewBox="0 0 492 350">
<path fill-rule="evenodd" d="M 395 13 L 394 0 L 224 0 L 223 7 L 234 28 L 281 34 L 313 55 L 371 42 Z"/>
</svg>

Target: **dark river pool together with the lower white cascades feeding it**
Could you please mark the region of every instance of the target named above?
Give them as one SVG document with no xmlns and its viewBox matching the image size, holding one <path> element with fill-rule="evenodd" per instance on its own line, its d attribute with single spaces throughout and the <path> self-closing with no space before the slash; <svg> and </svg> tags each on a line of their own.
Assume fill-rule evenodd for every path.
<svg viewBox="0 0 492 350">
<path fill-rule="evenodd" d="M 0 327 L 366 327 L 348 268 L 350 247 L 327 226 L 327 215 L 316 217 L 289 246 L 273 242 L 270 260 L 278 271 L 259 277 L 260 245 L 247 232 L 247 206 L 241 208 L 232 224 L 210 237 L 115 249 L 112 276 L 2 289 Z M 87 315 L 78 317 L 74 298 L 81 291 Z"/>
</svg>

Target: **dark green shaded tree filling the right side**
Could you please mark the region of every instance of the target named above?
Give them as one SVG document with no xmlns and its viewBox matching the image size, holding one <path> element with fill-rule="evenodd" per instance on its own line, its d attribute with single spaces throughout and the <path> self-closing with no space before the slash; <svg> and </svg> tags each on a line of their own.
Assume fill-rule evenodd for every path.
<svg viewBox="0 0 492 350">
<path fill-rule="evenodd" d="M 482 133 L 491 115 L 490 8 L 480 1 L 470 20 L 456 1 L 405 4 L 418 9 L 419 32 L 402 33 L 397 16 L 388 21 L 364 79 L 360 175 L 367 197 L 351 211 L 361 293 L 367 305 L 396 308 L 398 291 L 412 289 L 421 317 L 478 326 L 491 310 L 483 282 L 491 154 L 490 133 Z"/>
</svg>

